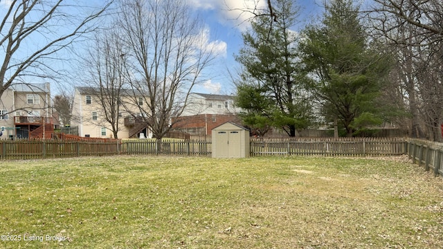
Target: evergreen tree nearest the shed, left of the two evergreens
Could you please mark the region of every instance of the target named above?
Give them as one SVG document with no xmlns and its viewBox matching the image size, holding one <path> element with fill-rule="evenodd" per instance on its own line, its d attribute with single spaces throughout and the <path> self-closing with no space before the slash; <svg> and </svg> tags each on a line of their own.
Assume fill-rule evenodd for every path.
<svg viewBox="0 0 443 249">
<path fill-rule="evenodd" d="M 310 118 L 305 80 L 298 71 L 298 35 L 291 30 L 296 25 L 299 8 L 289 0 L 272 4 L 278 22 L 267 15 L 257 15 L 252 30 L 243 34 L 245 46 L 236 57 L 244 66 L 242 77 L 253 82 L 250 86 L 237 87 L 237 94 L 256 95 L 253 98 L 263 100 L 261 106 L 264 103 L 268 106 L 257 109 L 248 102 L 238 104 L 251 114 L 249 121 L 258 125 L 266 123 L 263 118 L 267 118 L 269 124 L 293 137 L 297 129 L 307 127 Z"/>
</svg>

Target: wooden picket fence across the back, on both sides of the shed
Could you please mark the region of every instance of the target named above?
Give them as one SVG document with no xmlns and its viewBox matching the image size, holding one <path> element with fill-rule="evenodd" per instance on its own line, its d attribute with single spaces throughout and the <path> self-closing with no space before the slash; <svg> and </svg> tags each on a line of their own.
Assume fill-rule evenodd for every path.
<svg viewBox="0 0 443 249">
<path fill-rule="evenodd" d="M 415 147 L 410 147 L 411 145 L 406 145 L 405 140 L 399 138 L 251 139 L 250 155 L 395 156 L 415 149 Z M 204 140 L 177 139 L 165 139 L 162 142 L 139 139 L 2 140 L 0 142 L 1 159 L 68 158 L 116 154 L 211 156 L 212 143 Z M 419 156 L 416 157 L 419 158 Z M 440 160 L 443 160 L 442 156 L 440 157 Z"/>
</svg>

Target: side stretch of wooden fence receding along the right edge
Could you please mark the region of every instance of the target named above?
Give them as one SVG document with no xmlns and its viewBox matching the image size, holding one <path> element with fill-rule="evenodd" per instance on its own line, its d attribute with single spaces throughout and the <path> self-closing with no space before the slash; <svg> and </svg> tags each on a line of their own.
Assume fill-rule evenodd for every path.
<svg viewBox="0 0 443 249">
<path fill-rule="evenodd" d="M 421 139 L 407 139 L 407 153 L 413 163 L 432 170 L 435 176 L 443 176 L 443 143 Z"/>
</svg>

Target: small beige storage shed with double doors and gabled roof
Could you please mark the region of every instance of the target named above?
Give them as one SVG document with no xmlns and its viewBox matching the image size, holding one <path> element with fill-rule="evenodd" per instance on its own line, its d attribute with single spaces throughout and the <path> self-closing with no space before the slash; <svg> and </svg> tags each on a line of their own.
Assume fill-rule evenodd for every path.
<svg viewBox="0 0 443 249">
<path fill-rule="evenodd" d="M 212 130 L 213 158 L 249 157 L 249 130 L 233 122 L 225 122 Z"/>
</svg>

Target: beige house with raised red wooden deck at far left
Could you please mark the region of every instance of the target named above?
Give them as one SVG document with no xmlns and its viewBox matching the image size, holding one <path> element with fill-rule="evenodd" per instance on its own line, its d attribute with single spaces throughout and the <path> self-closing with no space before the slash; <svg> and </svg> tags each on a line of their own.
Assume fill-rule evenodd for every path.
<svg viewBox="0 0 443 249">
<path fill-rule="evenodd" d="M 52 138 L 51 88 L 44 84 L 12 84 L 1 96 L 0 138 Z"/>
</svg>

